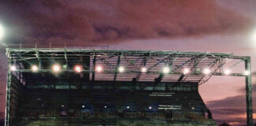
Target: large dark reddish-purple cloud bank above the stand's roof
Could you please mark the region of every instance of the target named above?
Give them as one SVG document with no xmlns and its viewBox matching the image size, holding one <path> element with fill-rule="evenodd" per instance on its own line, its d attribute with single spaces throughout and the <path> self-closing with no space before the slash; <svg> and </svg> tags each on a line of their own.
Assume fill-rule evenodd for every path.
<svg viewBox="0 0 256 126">
<path fill-rule="evenodd" d="M 115 43 L 239 31 L 250 24 L 213 0 L 9 0 L 1 5 L 2 20 L 17 29 L 18 39 L 11 39 L 17 43 Z"/>
</svg>

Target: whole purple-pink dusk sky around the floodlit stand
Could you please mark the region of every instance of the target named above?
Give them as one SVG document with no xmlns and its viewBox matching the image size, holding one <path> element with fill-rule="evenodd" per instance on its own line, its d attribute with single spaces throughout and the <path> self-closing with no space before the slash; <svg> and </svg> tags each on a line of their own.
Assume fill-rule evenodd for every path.
<svg viewBox="0 0 256 126">
<path fill-rule="evenodd" d="M 9 46 L 109 50 L 179 50 L 250 56 L 256 99 L 256 1 L 254 0 L 2 0 L 2 40 Z M 253 37 L 254 36 L 254 37 Z M 44 47 L 47 47 L 44 46 Z M 32 46 L 31 46 L 32 47 Z M 6 97 L 6 56 L 0 47 L 0 118 Z M 245 80 L 216 76 L 199 87 L 218 124 L 246 124 Z M 256 100 L 254 123 L 256 123 Z"/>
</svg>

